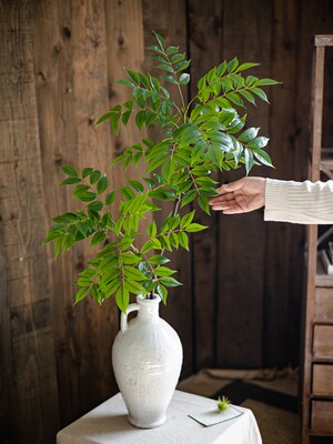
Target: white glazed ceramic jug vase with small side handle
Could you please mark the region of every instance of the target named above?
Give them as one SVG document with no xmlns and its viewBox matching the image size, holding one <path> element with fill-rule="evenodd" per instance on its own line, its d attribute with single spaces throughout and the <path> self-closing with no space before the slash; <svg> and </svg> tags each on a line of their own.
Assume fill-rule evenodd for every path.
<svg viewBox="0 0 333 444">
<path fill-rule="evenodd" d="M 182 345 L 175 331 L 159 316 L 160 297 L 137 297 L 121 314 L 112 347 L 115 381 L 129 411 L 129 422 L 152 428 L 167 420 L 182 366 Z M 127 316 L 138 310 L 129 323 Z"/>
</svg>

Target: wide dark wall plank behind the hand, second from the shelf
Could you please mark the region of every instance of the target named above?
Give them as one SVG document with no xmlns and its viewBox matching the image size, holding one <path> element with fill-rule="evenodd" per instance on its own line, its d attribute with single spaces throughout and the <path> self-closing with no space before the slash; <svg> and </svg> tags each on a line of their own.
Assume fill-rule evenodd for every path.
<svg viewBox="0 0 333 444">
<path fill-rule="evenodd" d="M 240 62 L 255 61 L 259 77 L 270 72 L 271 29 L 265 26 L 272 16 L 272 2 L 253 0 L 245 10 L 234 1 L 224 1 L 223 58 L 238 57 Z M 235 19 L 236 18 L 236 19 Z M 249 23 L 252 23 L 249 26 Z M 242 30 L 240 32 L 240 30 Z M 269 132 L 269 107 L 258 103 L 249 109 L 248 125 Z M 244 110 L 246 112 L 246 110 Z M 264 175 L 265 169 L 251 174 Z M 242 172 L 223 174 L 223 181 L 244 175 Z M 262 309 L 264 282 L 265 230 L 262 211 L 220 218 L 220 262 L 218 305 L 219 366 L 262 365 Z"/>
</svg>

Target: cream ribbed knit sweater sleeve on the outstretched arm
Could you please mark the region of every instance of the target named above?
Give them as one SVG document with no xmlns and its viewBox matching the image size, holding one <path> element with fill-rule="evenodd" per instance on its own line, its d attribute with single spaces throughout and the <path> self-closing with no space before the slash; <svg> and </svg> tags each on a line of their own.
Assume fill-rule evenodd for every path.
<svg viewBox="0 0 333 444">
<path fill-rule="evenodd" d="M 266 179 L 265 221 L 333 224 L 333 181 Z"/>
</svg>

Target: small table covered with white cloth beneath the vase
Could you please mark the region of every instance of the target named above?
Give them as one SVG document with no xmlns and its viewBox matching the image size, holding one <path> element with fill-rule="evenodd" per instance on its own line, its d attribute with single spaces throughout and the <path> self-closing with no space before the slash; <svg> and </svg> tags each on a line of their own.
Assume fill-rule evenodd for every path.
<svg viewBox="0 0 333 444">
<path fill-rule="evenodd" d="M 168 421 L 160 427 L 141 430 L 129 424 L 122 396 L 105 401 L 61 430 L 57 444 L 262 444 L 256 421 L 248 408 L 236 418 L 205 427 L 189 414 L 216 408 L 216 401 L 175 391 Z"/>
</svg>

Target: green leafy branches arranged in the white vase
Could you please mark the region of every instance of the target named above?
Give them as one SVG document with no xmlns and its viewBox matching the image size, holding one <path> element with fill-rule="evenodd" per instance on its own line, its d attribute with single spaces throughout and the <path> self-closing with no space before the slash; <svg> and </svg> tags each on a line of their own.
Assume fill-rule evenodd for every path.
<svg viewBox="0 0 333 444">
<path fill-rule="evenodd" d="M 115 134 L 133 118 L 139 130 L 160 128 L 159 141 L 143 139 L 112 163 L 122 162 L 128 169 L 144 162 L 145 176 L 110 190 L 108 176 L 99 170 L 88 167 L 78 172 L 74 167 L 62 167 L 68 178 L 61 184 L 74 185 L 72 196 L 84 208 L 53 218 L 44 243 L 54 241 L 56 258 L 87 238 L 91 238 L 91 245 L 101 244 L 75 282 L 80 287 L 77 302 L 89 293 L 99 303 L 114 295 L 119 309 L 125 311 L 130 294 L 149 297 L 157 293 L 165 303 L 168 287 L 180 284 L 173 278 L 175 270 L 167 265 L 169 253 L 179 248 L 189 250 L 189 235 L 206 228 L 194 222 L 191 203 L 196 201 L 210 212 L 208 199 L 216 195 L 211 172 L 243 165 L 249 173 L 254 164 L 272 165 L 264 151 L 269 139 L 259 135 L 259 128 L 244 129 L 246 113 L 241 115 L 239 110 L 258 99 L 268 102 L 262 87 L 278 82 L 245 77 L 244 71 L 258 63 L 240 64 L 234 58 L 204 74 L 196 94 L 185 103 L 182 88 L 190 82 L 186 71 L 191 61 L 179 47 L 168 47 L 159 34 L 155 39 L 149 47 L 155 68 L 163 73 L 163 84 L 174 85 L 181 104 L 155 77 L 127 70 L 128 78 L 119 83 L 131 89 L 131 99 L 98 121 L 110 121 Z M 173 202 L 173 211 L 159 226 L 155 221 L 148 225 L 148 240 L 139 246 L 141 221 L 165 201 Z"/>
</svg>

